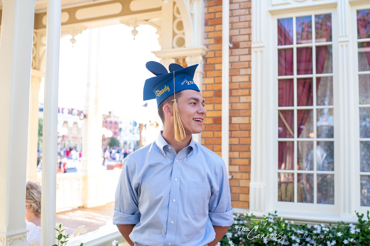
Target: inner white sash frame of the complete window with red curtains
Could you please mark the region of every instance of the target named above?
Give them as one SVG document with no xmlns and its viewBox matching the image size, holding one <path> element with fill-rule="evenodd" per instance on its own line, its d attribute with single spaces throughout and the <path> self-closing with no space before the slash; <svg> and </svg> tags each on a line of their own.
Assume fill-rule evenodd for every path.
<svg viewBox="0 0 370 246">
<path fill-rule="evenodd" d="M 272 80 L 272 88 L 273 88 L 273 104 L 274 104 L 274 107 L 272 108 L 271 110 L 271 113 L 273 115 L 273 124 L 272 124 L 272 129 L 273 129 L 273 137 L 272 137 L 272 140 L 273 140 L 273 162 L 272 162 L 272 166 L 273 166 L 273 169 L 272 169 L 272 184 L 275 184 L 275 185 L 272 185 L 272 189 L 275 189 L 275 191 L 273 192 L 273 207 L 276 208 L 278 211 L 283 211 L 283 210 L 287 210 L 287 211 L 296 211 L 296 212 L 300 212 L 300 211 L 306 211 L 306 212 L 317 212 L 317 211 L 320 211 L 322 213 L 325 213 L 325 214 L 337 214 L 338 213 L 338 204 L 339 204 L 339 182 L 338 182 L 338 177 L 339 177 L 339 162 L 337 161 L 338 158 L 340 158 L 340 156 L 338 155 L 339 153 L 339 144 L 338 143 L 338 134 L 339 134 L 339 131 L 338 131 L 338 127 L 339 127 L 339 117 L 337 117 L 338 115 L 338 106 L 337 106 L 337 101 L 338 101 L 338 96 L 337 95 L 337 86 L 336 86 L 336 82 L 337 82 L 337 68 L 338 68 L 338 64 L 337 64 L 337 54 L 335 52 L 335 50 L 337 50 L 337 41 L 338 41 L 338 35 L 337 35 L 337 24 L 336 24 L 336 19 L 337 19 L 337 16 L 336 16 L 336 9 L 333 9 L 333 8 L 327 8 L 327 9 L 323 9 L 323 10 L 308 10 L 308 11 L 299 11 L 299 12 L 288 12 L 288 13 L 284 13 L 284 14 L 277 14 L 277 15 L 273 15 L 273 18 L 272 18 L 272 26 L 273 27 L 277 27 L 277 20 L 278 19 L 283 19 L 283 18 L 293 18 L 293 36 L 295 37 L 296 36 L 296 30 L 295 30 L 295 18 L 296 17 L 301 17 L 301 16 L 314 16 L 314 15 L 319 15 L 319 14 L 331 14 L 332 15 L 332 47 L 333 47 L 333 57 L 332 57 L 332 60 L 333 60 L 333 106 L 334 106 L 334 204 L 312 204 L 312 203 L 297 203 L 297 171 L 293 170 L 293 173 L 294 173 L 294 177 L 295 177 L 295 183 L 294 183 L 294 190 L 295 190 L 295 197 L 294 197 L 294 202 L 285 202 L 285 201 L 277 201 L 278 197 L 277 197 L 277 184 L 278 184 L 278 181 L 277 181 L 277 173 L 280 172 L 280 173 L 283 173 L 285 172 L 285 170 L 280 170 L 278 171 L 277 169 L 277 163 L 278 163 L 278 132 L 277 132 L 277 129 L 278 129 L 278 114 L 277 114 L 277 110 L 278 110 L 278 94 L 277 94 L 277 84 L 278 84 L 278 76 L 277 76 L 277 71 L 278 71 L 278 66 L 277 66 L 277 63 L 275 63 L 275 66 L 272 67 L 272 73 L 273 73 L 273 80 Z M 314 20 L 314 19 L 313 19 Z M 314 21 L 312 22 L 312 32 L 314 32 Z M 272 57 L 273 57 L 273 60 L 274 61 L 277 61 L 278 59 L 278 46 L 277 46 L 277 28 L 273 31 L 272 33 L 272 38 L 271 38 L 271 41 L 272 41 Z M 295 40 L 295 38 L 294 38 Z M 312 43 L 311 46 L 313 46 L 314 43 Z M 296 45 L 290 45 L 290 46 L 296 46 Z M 289 47 L 290 47 L 289 46 Z M 306 47 L 306 46 L 305 46 Z M 296 54 L 295 51 L 293 51 L 293 54 Z M 312 59 L 313 59 L 313 66 L 315 65 L 315 55 L 313 54 L 312 56 Z M 293 56 L 293 66 L 296 67 L 296 55 Z M 292 76 L 293 77 L 293 76 Z M 294 77 L 296 77 L 296 75 L 294 75 Z M 295 79 L 296 80 L 296 79 Z M 315 84 L 315 80 L 313 80 L 313 84 Z M 296 83 L 296 82 L 295 82 Z M 315 87 L 314 87 L 315 88 Z M 296 97 L 296 89 L 295 89 L 295 97 Z M 314 99 L 315 100 L 315 99 Z M 292 107 L 293 108 L 293 107 Z M 296 108 L 295 108 L 296 110 Z M 315 109 L 316 110 L 316 109 Z M 296 118 L 296 116 L 295 116 Z M 295 126 L 294 126 L 294 131 L 295 131 L 295 134 L 297 132 L 297 126 L 296 126 L 296 119 L 295 119 Z M 314 122 L 315 119 L 314 119 Z M 316 124 L 314 123 L 314 128 L 316 128 Z M 294 145 L 295 145 L 295 160 L 297 159 L 297 142 L 296 140 L 299 139 L 299 138 L 292 138 L 292 140 L 294 141 Z M 296 163 L 294 161 L 294 163 Z M 296 166 L 296 165 L 295 165 Z M 295 168 L 296 169 L 296 168 Z M 291 172 L 291 171 L 288 171 L 288 172 Z M 315 172 L 316 173 L 316 172 Z M 315 182 L 316 182 L 316 177 L 314 176 L 314 179 L 313 179 L 313 186 L 316 188 L 314 189 L 314 194 L 316 194 L 316 190 L 317 190 L 317 185 L 315 185 Z M 315 199 L 316 197 L 314 197 L 314 201 L 316 201 Z"/>
</svg>

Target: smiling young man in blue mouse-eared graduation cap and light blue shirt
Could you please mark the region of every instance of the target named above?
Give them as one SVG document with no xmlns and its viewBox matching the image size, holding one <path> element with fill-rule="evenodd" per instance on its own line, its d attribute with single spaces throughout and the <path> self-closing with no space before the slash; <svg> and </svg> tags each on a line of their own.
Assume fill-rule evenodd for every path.
<svg viewBox="0 0 370 246">
<path fill-rule="evenodd" d="M 197 66 L 147 63 L 144 100 L 157 98 L 164 130 L 122 167 L 113 223 L 131 246 L 214 246 L 233 224 L 225 163 L 191 135 L 206 114 Z"/>
</svg>

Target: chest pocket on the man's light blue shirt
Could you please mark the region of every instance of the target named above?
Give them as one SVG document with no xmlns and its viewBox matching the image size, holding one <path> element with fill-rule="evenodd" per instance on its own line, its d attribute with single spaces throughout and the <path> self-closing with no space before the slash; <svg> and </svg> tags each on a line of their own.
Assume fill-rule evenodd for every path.
<svg viewBox="0 0 370 246">
<path fill-rule="evenodd" d="M 211 198 L 211 184 L 189 181 L 186 211 L 188 214 L 208 214 L 208 203 Z"/>
</svg>

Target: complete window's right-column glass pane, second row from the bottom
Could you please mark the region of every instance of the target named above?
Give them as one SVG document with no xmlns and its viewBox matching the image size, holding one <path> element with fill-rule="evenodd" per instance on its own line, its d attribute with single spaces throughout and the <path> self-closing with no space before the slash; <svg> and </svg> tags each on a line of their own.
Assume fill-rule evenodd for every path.
<svg viewBox="0 0 370 246">
<path fill-rule="evenodd" d="M 334 171 L 334 142 L 317 141 L 316 163 L 318 171 Z"/>
</svg>

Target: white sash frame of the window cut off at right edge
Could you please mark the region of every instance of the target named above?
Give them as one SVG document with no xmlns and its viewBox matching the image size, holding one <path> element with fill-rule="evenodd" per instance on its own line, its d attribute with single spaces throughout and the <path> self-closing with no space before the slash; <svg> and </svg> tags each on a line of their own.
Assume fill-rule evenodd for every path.
<svg viewBox="0 0 370 246">
<path fill-rule="evenodd" d="M 360 189 L 360 127 L 359 127 L 359 64 L 358 64 L 358 48 L 357 48 L 357 10 L 370 9 L 370 4 L 353 4 L 351 6 L 351 38 L 353 42 L 351 44 L 351 52 L 353 54 L 353 159 L 356 166 L 354 167 L 354 210 L 360 214 L 366 214 L 367 210 L 370 210 L 370 206 L 361 206 L 361 189 Z M 370 41 L 370 39 L 368 40 Z M 363 74 L 363 73 L 361 73 Z M 366 73 L 366 74 L 370 74 Z M 364 138 L 363 138 L 364 139 Z M 370 138 L 365 138 L 369 140 Z"/>
</svg>

